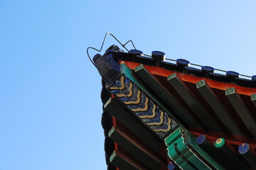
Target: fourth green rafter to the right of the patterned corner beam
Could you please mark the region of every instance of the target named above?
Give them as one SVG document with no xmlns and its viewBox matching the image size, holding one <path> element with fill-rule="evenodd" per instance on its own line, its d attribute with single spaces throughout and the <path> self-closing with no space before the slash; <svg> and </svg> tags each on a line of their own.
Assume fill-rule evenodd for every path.
<svg viewBox="0 0 256 170">
<path fill-rule="evenodd" d="M 248 111 L 247 107 L 245 106 L 245 103 L 242 102 L 239 94 L 235 91 L 235 88 L 232 87 L 226 89 L 225 95 L 233 108 L 235 108 L 235 111 L 240 116 L 242 122 L 245 123 L 245 126 L 250 131 L 252 137 L 256 137 L 256 122 L 254 118 L 252 118 L 250 111 Z"/>
</svg>

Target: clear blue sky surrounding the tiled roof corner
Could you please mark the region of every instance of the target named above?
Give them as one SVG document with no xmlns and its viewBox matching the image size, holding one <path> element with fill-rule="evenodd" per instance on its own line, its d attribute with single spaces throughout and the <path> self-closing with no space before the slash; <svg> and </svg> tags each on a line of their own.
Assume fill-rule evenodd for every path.
<svg viewBox="0 0 256 170">
<path fill-rule="evenodd" d="M 86 55 L 106 32 L 146 54 L 252 76 L 255 8 L 234 0 L 0 0 L 0 170 L 107 168 L 101 77 Z M 104 50 L 114 43 L 109 37 Z"/>
</svg>

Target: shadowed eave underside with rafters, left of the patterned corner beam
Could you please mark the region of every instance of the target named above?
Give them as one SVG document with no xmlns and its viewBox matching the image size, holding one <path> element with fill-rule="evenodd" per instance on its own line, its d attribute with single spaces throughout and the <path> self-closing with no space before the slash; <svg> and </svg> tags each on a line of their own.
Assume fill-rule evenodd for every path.
<svg viewBox="0 0 256 170">
<path fill-rule="evenodd" d="M 101 92 L 102 128 L 105 134 L 107 169 L 167 169 L 163 142 L 147 129 L 105 86 Z M 125 168 L 124 168 L 125 166 Z"/>
</svg>

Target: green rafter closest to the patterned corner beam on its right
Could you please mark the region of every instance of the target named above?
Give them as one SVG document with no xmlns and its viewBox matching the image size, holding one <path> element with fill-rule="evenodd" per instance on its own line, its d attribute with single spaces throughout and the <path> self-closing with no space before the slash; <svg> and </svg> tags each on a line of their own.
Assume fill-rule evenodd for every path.
<svg viewBox="0 0 256 170">
<path fill-rule="evenodd" d="M 198 127 L 198 123 L 193 120 L 192 116 L 188 111 L 186 111 L 186 108 L 184 108 L 181 103 L 179 103 L 176 98 L 169 93 L 169 91 L 154 77 L 154 75 L 144 68 L 143 64 L 140 64 L 135 68 L 135 73 L 147 86 L 149 86 L 152 91 L 154 91 L 155 94 L 159 96 L 161 101 L 166 103 L 166 106 L 169 106 L 172 115 L 178 117 L 178 120 L 186 125 Z"/>
</svg>

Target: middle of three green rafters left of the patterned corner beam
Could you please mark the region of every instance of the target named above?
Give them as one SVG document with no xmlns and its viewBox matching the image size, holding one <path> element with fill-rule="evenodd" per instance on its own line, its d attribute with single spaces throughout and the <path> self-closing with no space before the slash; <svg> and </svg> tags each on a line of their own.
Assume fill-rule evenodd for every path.
<svg viewBox="0 0 256 170">
<path fill-rule="evenodd" d="M 108 135 L 110 139 L 117 142 L 117 145 L 122 147 L 122 149 L 129 154 L 132 154 L 139 162 L 148 166 L 149 169 L 154 170 L 161 168 L 161 164 L 159 163 L 161 160 L 159 160 L 158 157 L 149 153 L 142 145 L 139 145 L 132 137 L 124 134 L 121 130 L 112 127 Z"/>
</svg>

